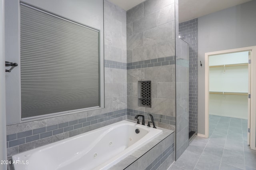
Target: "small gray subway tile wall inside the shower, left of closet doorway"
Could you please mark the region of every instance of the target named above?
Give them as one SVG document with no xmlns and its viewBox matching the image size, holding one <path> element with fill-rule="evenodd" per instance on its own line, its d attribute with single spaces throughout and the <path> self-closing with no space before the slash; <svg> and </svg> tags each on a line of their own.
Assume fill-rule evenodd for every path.
<svg viewBox="0 0 256 170">
<path fill-rule="evenodd" d="M 189 131 L 198 132 L 198 19 L 179 24 L 179 36 L 189 46 Z"/>
</svg>

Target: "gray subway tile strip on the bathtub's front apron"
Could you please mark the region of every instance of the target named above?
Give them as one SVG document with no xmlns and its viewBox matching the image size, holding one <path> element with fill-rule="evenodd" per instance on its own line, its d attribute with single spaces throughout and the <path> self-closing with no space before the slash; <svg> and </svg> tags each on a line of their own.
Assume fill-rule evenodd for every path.
<svg viewBox="0 0 256 170">
<path fill-rule="evenodd" d="M 174 152 L 174 143 L 156 158 L 145 170 L 156 170 Z"/>
</svg>

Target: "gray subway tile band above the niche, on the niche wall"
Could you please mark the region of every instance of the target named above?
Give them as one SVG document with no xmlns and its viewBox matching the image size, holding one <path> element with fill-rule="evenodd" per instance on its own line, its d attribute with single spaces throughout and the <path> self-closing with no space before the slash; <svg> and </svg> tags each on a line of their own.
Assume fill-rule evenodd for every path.
<svg viewBox="0 0 256 170">
<path fill-rule="evenodd" d="M 136 68 L 167 66 L 167 65 L 174 65 L 174 64 L 175 64 L 174 56 L 162 57 L 162 58 L 156 58 L 151 60 L 127 63 L 127 70 L 136 69 Z"/>
</svg>

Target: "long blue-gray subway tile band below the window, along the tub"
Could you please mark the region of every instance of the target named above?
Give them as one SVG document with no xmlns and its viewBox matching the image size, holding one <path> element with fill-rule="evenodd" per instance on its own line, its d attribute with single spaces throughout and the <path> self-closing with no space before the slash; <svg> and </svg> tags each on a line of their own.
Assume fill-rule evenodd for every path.
<svg viewBox="0 0 256 170">
<path fill-rule="evenodd" d="M 46 126 L 43 128 L 37 128 L 15 134 L 9 134 L 6 136 L 7 148 L 47 138 L 64 132 L 69 132 L 71 130 L 82 128 L 85 126 L 90 126 L 96 123 L 104 122 L 125 115 L 127 115 L 127 109 L 118 110 L 115 112 L 108 112 L 78 120 L 72 120 L 70 122 L 64 122 L 56 125 Z"/>
</svg>

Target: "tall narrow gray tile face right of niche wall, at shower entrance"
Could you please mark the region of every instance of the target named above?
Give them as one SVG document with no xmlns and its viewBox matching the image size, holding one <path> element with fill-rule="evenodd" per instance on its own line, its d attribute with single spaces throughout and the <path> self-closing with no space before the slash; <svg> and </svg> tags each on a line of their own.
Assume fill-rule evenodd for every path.
<svg viewBox="0 0 256 170">
<path fill-rule="evenodd" d="M 176 160 L 188 147 L 189 44 L 176 38 Z"/>
</svg>

